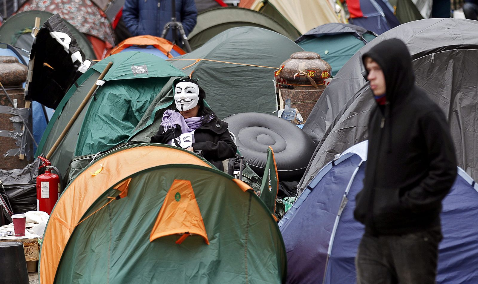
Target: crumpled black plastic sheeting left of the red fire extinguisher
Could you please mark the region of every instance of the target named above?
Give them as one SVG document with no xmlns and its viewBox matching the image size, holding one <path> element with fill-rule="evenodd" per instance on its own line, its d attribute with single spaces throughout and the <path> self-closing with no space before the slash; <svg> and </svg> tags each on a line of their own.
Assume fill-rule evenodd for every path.
<svg viewBox="0 0 478 284">
<path fill-rule="evenodd" d="M 40 160 L 23 169 L 1 170 L 0 180 L 5 191 L 0 187 L 0 194 L 13 211 L 13 214 L 36 210 L 36 177 Z"/>
</svg>

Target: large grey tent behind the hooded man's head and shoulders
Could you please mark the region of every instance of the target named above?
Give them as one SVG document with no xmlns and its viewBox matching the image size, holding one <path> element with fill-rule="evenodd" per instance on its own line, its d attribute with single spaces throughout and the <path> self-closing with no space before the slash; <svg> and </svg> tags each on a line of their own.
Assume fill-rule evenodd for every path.
<svg viewBox="0 0 478 284">
<path fill-rule="evenodd" d="M 416 84 L 442 107 L 450 123 L 458 166 L 478 179 L 478 22 L 426 19 L 383 33 L 355 54 L 315 104 L 304 131 L 317 148 L 299 184 L 304 188 L 337 153 L 367 140 L 372 94 L 361 57 L 383 40 L 399 38 L 413 59 Z"/>
</svg>

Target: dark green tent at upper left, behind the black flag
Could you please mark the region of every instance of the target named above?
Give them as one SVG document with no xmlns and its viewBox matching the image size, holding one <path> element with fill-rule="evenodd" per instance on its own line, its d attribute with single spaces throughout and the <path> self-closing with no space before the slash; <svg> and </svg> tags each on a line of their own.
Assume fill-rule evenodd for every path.
<svg viewBox="0 0 478 284">
<path fill-rule="evenodd" d="M 0 43 L 11 44 L 17 48 L 21 48 L 26 53 L 30 52 L 33 44 L 33 37 L 31 36 L 33 27 L 35 25 L 35 18 L 40 18 L 40 27 L 46 22 L 52 13 L 46 11 L 24 11 L 13 15 L 6 22 L 0 26 Z M 83 33 L 69 22 L 63 20 L 70 32 L 76 39 L 81 51 L 88 59 L 96 59 L 93 47 Z"/>
</svg>

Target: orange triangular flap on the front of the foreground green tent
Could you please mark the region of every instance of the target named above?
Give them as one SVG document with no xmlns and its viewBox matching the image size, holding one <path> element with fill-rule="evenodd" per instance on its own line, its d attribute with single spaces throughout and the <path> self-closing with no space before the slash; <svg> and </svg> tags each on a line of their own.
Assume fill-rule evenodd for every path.
<svg viewBox="0 0 478 284">
<path fill-rule="evenodd" d="M 175 179 L 169 188 L 152 228 L 150 241 L 174 234 L 185 234 L 186 237 L 189 234 L 200 235 L 209 244 L 193 186 L 188 180 Z M 180 243 L 179 240 L 176 243 Z"/>
</svg>

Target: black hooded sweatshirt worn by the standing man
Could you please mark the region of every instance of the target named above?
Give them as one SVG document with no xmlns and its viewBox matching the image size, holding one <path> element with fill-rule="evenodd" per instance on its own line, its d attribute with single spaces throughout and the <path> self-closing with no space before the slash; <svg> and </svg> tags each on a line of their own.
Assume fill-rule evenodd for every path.
<svg viewBox="0 0 478 284">
<path fill-rule="evenodd" d="M 362 56 L 383 71 L 386 104 L 369 120 L 364 188 L 354 216 L 372 235 L 401 235 L 440 226 L 441 202 L 456 178 L 445 114 L 415 86 L 412 60 L 398 39 Z M 364 64 L 365 65 L 365 64 Z"/>
</svg>

